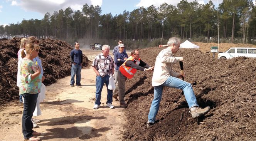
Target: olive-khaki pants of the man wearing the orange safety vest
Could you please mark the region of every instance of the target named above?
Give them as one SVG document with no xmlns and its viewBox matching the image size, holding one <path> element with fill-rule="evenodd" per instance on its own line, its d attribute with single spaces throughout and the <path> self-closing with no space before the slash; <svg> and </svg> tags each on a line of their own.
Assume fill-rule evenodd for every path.
<svg viewBox="0 0 256 141">
<path fill-rule="evenodd" d="M 125 102 L 125 81 L 127 80 L 127 77 L 124 76 L 120 71 L 118 71 L 118 95 L 119 95 L 119 102 Z"/>
</svg>

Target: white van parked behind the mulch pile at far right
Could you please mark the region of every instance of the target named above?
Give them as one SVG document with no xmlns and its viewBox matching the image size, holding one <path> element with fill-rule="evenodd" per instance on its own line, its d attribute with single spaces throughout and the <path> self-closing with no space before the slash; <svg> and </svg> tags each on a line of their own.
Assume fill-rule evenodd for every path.
<svg viewBox="0 0 256 141">
<path fill-rule="evenodd" d="M 234 57 L 256 57 L 256 48 L 251 47 L 232 47 L 229 50 L 219 53 L 218 59 L 231 59 Z"/>
</svg>

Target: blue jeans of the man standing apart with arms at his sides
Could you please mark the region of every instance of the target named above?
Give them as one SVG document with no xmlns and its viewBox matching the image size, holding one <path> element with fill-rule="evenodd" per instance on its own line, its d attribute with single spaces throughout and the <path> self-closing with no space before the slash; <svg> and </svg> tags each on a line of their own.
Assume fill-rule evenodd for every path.
<svg viewBox="0 0 256 141">
<path fill-rule="evenodd" d="M 71 67 L 71 81 L 70 84 L 74 85 L 75 84 L 75 75 L 76 75 L 76 84 L 79 85 L 81 84 L 81 69 L 82 66 L 81 65 L 74 65 L 72 64 Z"/>
</svg>

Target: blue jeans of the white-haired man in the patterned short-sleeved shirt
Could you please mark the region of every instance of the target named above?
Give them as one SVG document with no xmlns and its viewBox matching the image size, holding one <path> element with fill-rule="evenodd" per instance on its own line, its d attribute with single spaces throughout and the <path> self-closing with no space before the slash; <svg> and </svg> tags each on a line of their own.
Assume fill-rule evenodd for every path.
<svg viewBox="0 0 256 141">
<path fill-rule="evenodd" d="M 104 86 L 104 83 L 106 84 L 107 90 L 108 90 L 108 95 L 107 95 L 107 103 L 112 103 L 113 99 L 113 90 L 108 89 L 108 81 L 109 81 L 109 75 L 106 75 L 104 77 L 97 76 L 96 77 L 96 100 L 95 104 L 100 105 L 101 104 L 101 91 Z"/>
</svg>

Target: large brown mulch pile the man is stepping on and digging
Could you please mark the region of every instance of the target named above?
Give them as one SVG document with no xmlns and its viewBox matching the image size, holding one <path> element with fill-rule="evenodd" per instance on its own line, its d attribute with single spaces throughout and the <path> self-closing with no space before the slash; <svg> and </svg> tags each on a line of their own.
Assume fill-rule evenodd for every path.
<svg viewBox="0 0 256 141">
<path fill-rule="evenodd" d="M 141 60 L 154 65 L 163 48 L 140 50 Z M 208 114 L 191 117 L 181 90 L 163 92 L 156 124 L 146 128 L 153 100 L 153 72 L 137 71 L 126 81 L 128 108 L 125 140 L 256 140 L 256 67 L 253 58 L 229 60 L 212 58 L 199 50 L 181 49 L 185 81 L 193 86 L 200 107 Z M 180 72 L 179 64 L 173 65 Z"/>
</svg>

